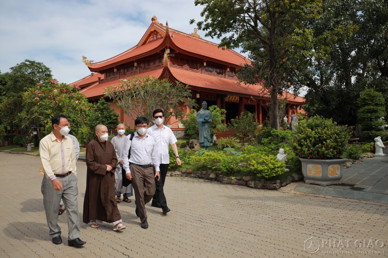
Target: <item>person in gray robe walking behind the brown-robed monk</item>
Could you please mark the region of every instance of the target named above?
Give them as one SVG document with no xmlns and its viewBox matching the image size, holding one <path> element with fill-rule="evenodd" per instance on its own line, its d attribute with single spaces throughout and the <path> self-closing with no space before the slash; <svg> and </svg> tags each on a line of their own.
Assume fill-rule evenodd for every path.
<svg viewBox="0 0 388 258">
<path fill-rule="evenodd" d="M 118 135 L 113 137 L 111 140 L 114 150 L 116 150 L 117 157 L 116 172 L 114 172 L 114 179 L 116 181 L 116 202 L 121 202 L 121 193 L 123 193 L 123 201 L 130 203 L 131 200 L 129 198 L 133 196 L 132 184 L 124 187 L 123 176 L 121 174 L 121 167 L 123 166 L 123 162 L 121 161 L 121 154 L 123 154 L 123 147 L 126 138 L 124 124 L 117 125 L 117 133 Z"/>
</svg>

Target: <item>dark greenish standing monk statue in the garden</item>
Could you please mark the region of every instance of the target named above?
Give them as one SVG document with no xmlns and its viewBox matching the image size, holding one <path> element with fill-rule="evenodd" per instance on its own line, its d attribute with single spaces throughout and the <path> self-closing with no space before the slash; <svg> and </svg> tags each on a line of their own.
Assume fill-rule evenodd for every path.
<svg viewBox="0 0 388 258">
<path fill-rule="evenodd" d="M 209 110 L 207 110 L 208 103 L 206 101 L 202 102 L 202 109 L 197 112 L 197 123 L 199 128 L 199 145 L 206 148 L 206 151 L 209 152 L 209 146 L 211 141 L 210 136 L 210 123 L 213 121 L 213 115 Z"/>
</svg>

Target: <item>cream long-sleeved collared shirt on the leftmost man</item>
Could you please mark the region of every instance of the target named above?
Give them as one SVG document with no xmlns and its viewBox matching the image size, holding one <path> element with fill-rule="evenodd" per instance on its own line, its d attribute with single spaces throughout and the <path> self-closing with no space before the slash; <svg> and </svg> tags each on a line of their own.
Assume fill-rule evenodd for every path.
<svg viewBox="0 0 388 258">
<path fill-rule="evenodd" d="M 46 177 L 51 181 L 56 179 L 54 174 L 71 171 L 76 175 L 74 144 L 71 138 L 63 136 L 60 142 L 51 132 L 40 140 L 39 153 Z"/>
</svg>

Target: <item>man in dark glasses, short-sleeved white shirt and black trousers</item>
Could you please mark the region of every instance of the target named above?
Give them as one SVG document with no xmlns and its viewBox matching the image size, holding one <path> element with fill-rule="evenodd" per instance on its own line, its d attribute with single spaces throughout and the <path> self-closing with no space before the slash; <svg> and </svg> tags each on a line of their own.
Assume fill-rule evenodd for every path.
<svg viewBox="0 0 388 258">
<path fill-rule="evenodd" d="M 150 134 L 154 137 L 156 146 L 159 150 L 159 168 L 160 168 L 160 179 L 155 179 L 156 191 L 154 197 L 152 198 L 151 206 L 162 208 L 162 213 L 167 214 L 171 210 L 167 207 L 166 196 L 163 192 L 163 187 L 165 186 L 166 175 L 168 170 L 168 165 L 170 164 L 170 156 L 168 155 L 168 144 L 171 145 L 172 150 L 174 151 L 175 158 L 177 159 L 178 166 L 181 165 L 181 161 L 178 154 L 177 148 L 177 138 L 170 128 L 163 125 L 165 121 L 165 114 L 160 108 L 152 112 L 154 117 L 155 124 L 148 128 L 147 134 Z"/>
</svg>

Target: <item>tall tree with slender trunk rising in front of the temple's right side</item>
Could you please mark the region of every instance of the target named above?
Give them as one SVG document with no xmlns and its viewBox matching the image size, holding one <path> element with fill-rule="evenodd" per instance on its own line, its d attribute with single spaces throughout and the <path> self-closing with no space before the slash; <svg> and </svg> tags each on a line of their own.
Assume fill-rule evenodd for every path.
<svg viewBox="0 0 388 258">
<path fill-rule="evenodd" d="M 287 74 L 301 68 L 291 60 L 325 50 L 314 49 L 313 32 L 306 28 L 319 17 L 321 0 L 196 0 L 195 5 L 204 5 L 204 21 L 192 19 L 191 24 L 207 31 L 206 36 L 222 38 L 220 47 L 242 47 L 249 53 L 253 62 L 241 67 L 239 79 L 263 84 L 267 92 L 262 94 L 270 95 L 271 127 L 279 129 L 278 95 L 291 88 Z"/>
</svg>

